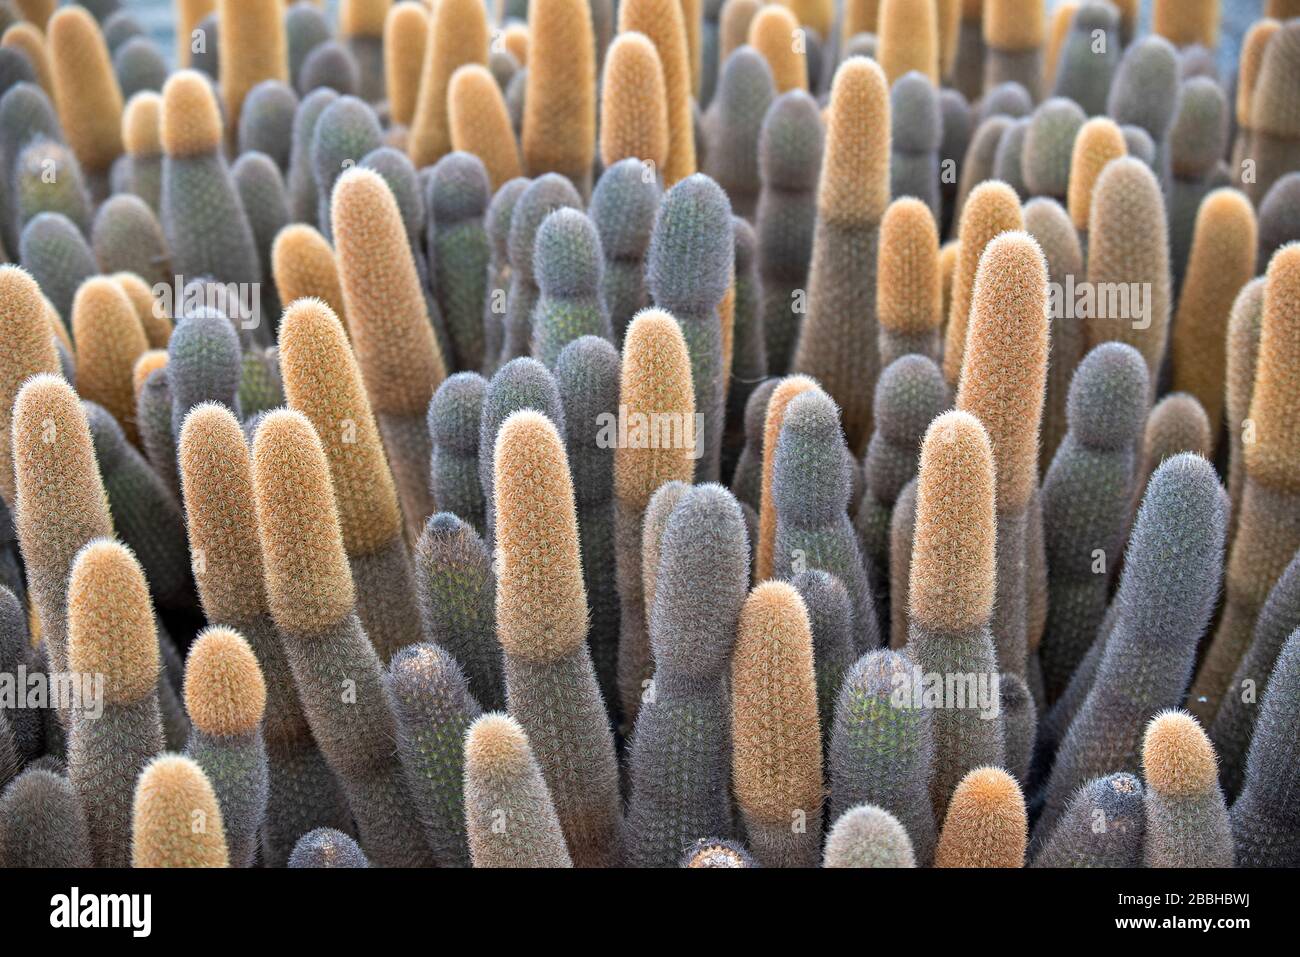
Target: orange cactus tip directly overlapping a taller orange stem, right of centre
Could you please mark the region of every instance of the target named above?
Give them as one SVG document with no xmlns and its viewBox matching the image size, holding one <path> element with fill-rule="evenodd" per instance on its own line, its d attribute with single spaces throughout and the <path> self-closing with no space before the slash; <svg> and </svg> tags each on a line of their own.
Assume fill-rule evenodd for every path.
<svg viewBox="0 0 1300 957">
<path fill-rule="evenodd" d="M 996 592 L 993 445 L 979 419 L 945 412 L 926 430 L 916 482 L 916 531 L 907 589 L 928 628 L 978 628 Z"/>
</svg>

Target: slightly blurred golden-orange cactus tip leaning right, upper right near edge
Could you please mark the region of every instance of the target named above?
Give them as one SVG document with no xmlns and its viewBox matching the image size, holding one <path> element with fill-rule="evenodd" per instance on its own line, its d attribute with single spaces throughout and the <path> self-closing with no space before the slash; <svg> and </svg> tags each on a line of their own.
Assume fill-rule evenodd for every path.
<svg viewBox="0 0 1300 957">
<path fill-rule="evenodd" d="M 1254 276 L 1257 242 L 1254 205 L 1245 195 L 1216 190 L 1201 202 L 1174 319 L 1174 387 L 1200 400 L 1216 436 L 1223 416 L 1227 320 L 1236 294 Z"/>
</svg>

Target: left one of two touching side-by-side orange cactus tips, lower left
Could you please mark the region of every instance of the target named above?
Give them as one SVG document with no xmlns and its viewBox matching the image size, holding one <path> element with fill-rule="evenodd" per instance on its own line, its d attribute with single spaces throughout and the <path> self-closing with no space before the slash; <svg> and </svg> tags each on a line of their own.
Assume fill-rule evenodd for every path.
<svg viewBox="0 0 1300 957">
<path fill-rule="evenodd" d="M 252 455 L 239 420 L 217 402 L 195 406 L 181 425 L 177 458 L 194 579 L 208 619 L 265 614 Z"/>
</svg>

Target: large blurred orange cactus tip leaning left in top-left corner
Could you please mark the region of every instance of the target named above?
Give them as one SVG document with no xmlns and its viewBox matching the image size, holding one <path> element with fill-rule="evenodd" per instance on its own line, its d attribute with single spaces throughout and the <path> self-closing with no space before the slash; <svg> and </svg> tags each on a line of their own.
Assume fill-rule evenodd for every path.
<svg viewBox="0 0 1300 957">
<path fill-rule="evenodd" d="M 95 18 L 64 7 L 49 18 L 55 105 L 68 144 L 87 173 L 104 173 L 122 152 L 122 91 Z"/>
</svg>

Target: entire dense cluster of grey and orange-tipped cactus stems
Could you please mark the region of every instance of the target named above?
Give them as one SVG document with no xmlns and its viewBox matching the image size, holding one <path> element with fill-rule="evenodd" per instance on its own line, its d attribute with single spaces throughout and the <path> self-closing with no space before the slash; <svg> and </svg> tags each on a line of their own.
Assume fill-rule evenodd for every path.
<svg viewBox="0 0 1300 957">
<path fill-rule="evenodd" d="M 1226 7 L 5 7 L 0 866 L 1300 866 Z"/>
</svg>

